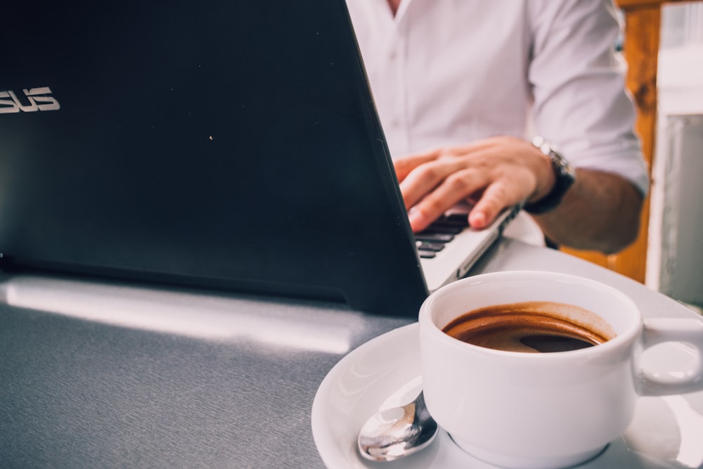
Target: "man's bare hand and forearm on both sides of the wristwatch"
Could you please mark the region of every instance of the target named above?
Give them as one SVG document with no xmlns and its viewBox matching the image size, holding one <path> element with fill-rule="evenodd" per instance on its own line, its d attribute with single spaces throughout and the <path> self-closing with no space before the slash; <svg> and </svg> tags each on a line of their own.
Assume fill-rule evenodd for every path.
<svg viewBox="0 0 703 469">
<path fill-rule="evenodd" d="M 475 203 L 469 223 L 482 229 L 503 208 L 535 202 L 555 184 L 549 158 L 508 136 L 408 156 L 395 169 L 415 232 L 462 200 Z M 643 194 L 631 181 L 581 168 L 560 205 L 534 219 L 557 244 L 612 253 L 635 240 L 642 207 Z"/>
</svg>

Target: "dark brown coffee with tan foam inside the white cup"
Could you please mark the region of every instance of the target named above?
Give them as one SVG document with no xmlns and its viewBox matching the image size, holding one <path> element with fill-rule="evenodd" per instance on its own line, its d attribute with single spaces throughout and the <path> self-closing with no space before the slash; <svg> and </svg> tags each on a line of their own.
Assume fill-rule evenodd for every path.
<svg viewBox="0 0 703 469">
<path fill-rule="evenodd" d="M 607 342 L 599 316 L 571 304 L 520 302 L 469 311 L 442 329 L 453 338 L 508 352 L 566 352 Z"/>
</svg>

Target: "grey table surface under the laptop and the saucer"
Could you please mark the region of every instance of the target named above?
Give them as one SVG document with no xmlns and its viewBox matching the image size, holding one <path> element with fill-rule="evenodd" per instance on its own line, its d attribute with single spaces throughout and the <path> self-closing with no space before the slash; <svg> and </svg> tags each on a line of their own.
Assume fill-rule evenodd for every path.
<svg viewBox="0 0 703 469">
<path fill-rule="evenodd" d="M 581 274 L 645 316 L 692 314 L 562 252 L 505 238 L 471 274 Z M 0 281 L 0 466 L 322 468 L 318 385 L 349 351 L 413 319 L 337 304 L 45 276 Z"/>
</svg>

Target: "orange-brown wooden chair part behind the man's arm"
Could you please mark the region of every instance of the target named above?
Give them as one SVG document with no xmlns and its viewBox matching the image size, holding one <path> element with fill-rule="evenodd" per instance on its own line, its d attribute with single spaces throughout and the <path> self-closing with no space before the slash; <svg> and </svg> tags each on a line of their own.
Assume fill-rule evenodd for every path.
<svg viewBox="0 0 703 469">
<path fill-rule="evenodd" d="M 625 17 L 623 53 L 628 63 L 626 86 L 635 101 L 638 113 L 635 128 L 642 141 L 650 176 L 657 131 L 657 58 L 662 5 L 681 1 L 686 0 L 614 0 Z M 649 219 L 650 199 L 647 197 L 637 240 L 618 254 L 603 255 L 568 248 L 562 250 L 644 283 Z"/>
</svg>

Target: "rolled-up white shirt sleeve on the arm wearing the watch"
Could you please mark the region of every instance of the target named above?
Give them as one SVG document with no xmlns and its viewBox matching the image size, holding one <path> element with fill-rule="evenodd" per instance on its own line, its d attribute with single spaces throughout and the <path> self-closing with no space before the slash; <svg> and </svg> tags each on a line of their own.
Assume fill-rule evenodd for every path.
<svg viewBox="0 0 703 469">
<path fill-rule="evenodd" d="M 635 108 L 614 51 L 612 0 L 534 1 L 529 13 L 534 131 L 574 167 L 619 174 L 647 193 Z"/>
</svg>

